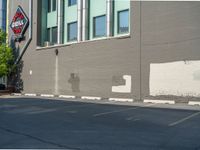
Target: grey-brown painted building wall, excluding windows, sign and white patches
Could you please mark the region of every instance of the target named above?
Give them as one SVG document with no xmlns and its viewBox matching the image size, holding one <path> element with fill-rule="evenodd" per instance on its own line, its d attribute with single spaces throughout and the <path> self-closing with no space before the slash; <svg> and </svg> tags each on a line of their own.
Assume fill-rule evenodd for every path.
<svg viewBox="0 0 200 150">
<path fill-rule="evenodd" d="M 11 18 L 18 4 L 28 14 L 27 0 L 13 0 Z M 37 48 L 40 15 L 37 14 L 37 1 L 33 1 L 33 38 L 21 60 L 23 92 L 137 100 L 152 98 L 151 64 L 200 60 L 199 4 L 132 1 L 130 36 Z M 20 49 L 23 44 L 16 43 L 16 46 Z M 55 49 L 59 51 L 58 56 Z M 72 78 L 72 74 L 77 78 Z M 125 84 L 124 75 L 132 77 L 131 93 L 112 92 L 112 86 Z M 166 92 L 158 96 L 176 95 Z"/>
</svg>

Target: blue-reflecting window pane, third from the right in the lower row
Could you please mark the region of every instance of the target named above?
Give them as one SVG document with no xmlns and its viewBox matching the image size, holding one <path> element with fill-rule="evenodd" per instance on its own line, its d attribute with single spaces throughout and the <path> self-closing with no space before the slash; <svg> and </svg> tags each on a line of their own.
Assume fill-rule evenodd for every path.
<svg viewBox="0 0 200 150">
<path fill-rule="evenodd" d="M 77 41 L 77 22 L 68 24 L 68 42 Z"/>
</svg>

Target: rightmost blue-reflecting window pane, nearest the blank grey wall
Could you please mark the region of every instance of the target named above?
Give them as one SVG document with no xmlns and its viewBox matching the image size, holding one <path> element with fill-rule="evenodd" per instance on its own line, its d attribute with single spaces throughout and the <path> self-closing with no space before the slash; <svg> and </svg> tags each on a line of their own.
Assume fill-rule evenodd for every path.
<svg viewBox="0 0 200 150">
<path fill-rule="evenodd" d="M 129 32 L 129 10 L 123 10 L 118 12 L 118 33 Z"/>
</svg>

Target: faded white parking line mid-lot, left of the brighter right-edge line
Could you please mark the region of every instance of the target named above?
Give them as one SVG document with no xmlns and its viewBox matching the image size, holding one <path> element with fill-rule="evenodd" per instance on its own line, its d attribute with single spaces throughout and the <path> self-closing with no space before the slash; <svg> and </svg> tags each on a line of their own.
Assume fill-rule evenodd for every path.
<svg viewBox="0 0 200 150">
<path fill-rule="evenodd" d="M 131 108 L 126 108 L 126 109 L 98 113 L 98 114 L 94 114 L 93 117 L 105 116 L 108 114 L 119 113 L 119 112 L 124 112 L 124 111 L 129 111 L 129 110 L 136 110 L 136 109 L 145 108 L 145 107 L 149 107 L 149 106 L 153 106 L 153 105 L 156 105 L 156 104 L 148 104 L 148 105 L 141 106 L 141 107 L 131 107 Z"/>
</svg>

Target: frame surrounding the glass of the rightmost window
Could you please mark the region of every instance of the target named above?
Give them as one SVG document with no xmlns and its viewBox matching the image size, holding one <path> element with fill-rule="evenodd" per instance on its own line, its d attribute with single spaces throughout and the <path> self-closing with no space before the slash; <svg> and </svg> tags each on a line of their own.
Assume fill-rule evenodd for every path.
<svg viewBox="0 0 200 150">
<path fill-rule="evenodd" d="M 123 12 L 128 12 L 128 30 L 126 32 L 121 32 L 120 31 L 120 13 Z M 117 12 L 117 34 L 121 35 L 121 34 L 127 34 L 130 32 L 130 10 L 129 9 L 125 9 L 125 10 L 120 10 Z"/>
</svg>

